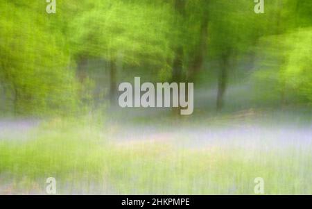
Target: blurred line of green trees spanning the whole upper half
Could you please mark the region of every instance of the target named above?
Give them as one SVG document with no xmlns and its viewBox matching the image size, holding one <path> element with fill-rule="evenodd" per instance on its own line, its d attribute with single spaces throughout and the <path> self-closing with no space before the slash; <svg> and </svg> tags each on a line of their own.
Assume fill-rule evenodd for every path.
<svg viewBox="0 0 312 209">
<path fill-rule="evenodd" d="M 312 1 L 265 1 L 263 14 L 252 0 L 58 0 L 56 14 L 46 6 L 0 2 L 2 111 L 67 115 L 94 106 L 101 83 L 89 76 L 90 59 L 103 60 L 103 97 L 112 103 L 118 66 L 153 69 L 158 81 L 193 82 L 214 62 L 220 110 L 232 69 L 248 59 L 261 99 L 270 87 L 281 105 L 289 95 L 311 104 Z"/>
</svg>

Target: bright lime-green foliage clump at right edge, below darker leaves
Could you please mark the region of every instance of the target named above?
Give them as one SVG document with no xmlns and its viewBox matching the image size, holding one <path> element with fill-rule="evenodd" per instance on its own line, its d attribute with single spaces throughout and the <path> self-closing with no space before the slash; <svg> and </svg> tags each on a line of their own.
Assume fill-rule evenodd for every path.
<svg viewBox="0 0 312 209">
<path fill-rule="evenodd" d="M 311 40 L 311 28 L 264 37 L 259 42 L 259 51 L 262 53 L 258 55 L 261 65 L 254 72 L 256 82 L 270 86 L 272 97 L 289 100 L 299 96 L 300 100 L 297 101 L 311 103 L 312 59 L 311 47 L 307 47 L 312 46 Z"/>
</svg>

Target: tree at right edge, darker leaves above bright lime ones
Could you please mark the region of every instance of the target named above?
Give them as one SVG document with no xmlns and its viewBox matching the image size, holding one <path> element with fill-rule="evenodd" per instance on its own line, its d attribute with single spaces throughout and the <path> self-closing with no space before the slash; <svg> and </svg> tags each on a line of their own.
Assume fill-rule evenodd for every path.
<svg viewBox="0 0 312 209">
<path fill-rule="evenodd" d="M 311 1 L 277 1 L 270 11 L 275 15 L 271 15 L 270 21 L 266 19 L 266 22 L 276 24 L 270 24 L 270 28 L 263 30 L 263 37 L 257 44 L 259 61 L 253 74 L 255 84 L 270 86 L 270 94 L 263 87 L 261 92 L 280 101 L 281 106 L 296 97 L 311 101 L 311 72 L 308 67 L 311 51 L 307 47 L 311 45 L 312 22 L 307 12 L 311 7 Z"/>
</svg>

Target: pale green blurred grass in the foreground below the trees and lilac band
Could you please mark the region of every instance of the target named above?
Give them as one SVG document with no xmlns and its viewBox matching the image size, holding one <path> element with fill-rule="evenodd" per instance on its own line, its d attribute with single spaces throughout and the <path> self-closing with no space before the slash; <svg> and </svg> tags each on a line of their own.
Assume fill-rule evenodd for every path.
<svg viewBox="0 0 312 209">
<path fill-rule="evenodd" d="M 178 148 L 164 142 L 112 143 L 87 123 L 49 122 L 33 139 L 0 141 L 0 193 L 45 194 L 312 194 L 309 149 Z"/>
</svg>

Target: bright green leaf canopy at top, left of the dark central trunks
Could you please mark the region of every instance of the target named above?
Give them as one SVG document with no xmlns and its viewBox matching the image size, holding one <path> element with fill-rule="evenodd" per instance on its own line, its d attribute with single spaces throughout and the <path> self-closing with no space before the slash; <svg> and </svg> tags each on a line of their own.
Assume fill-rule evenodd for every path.
<svg viewBox="0 0 312 209">
<path fill-rule="evenodd" d="M 163 65 L 173 53 L 171 13 L 167 6 L 94 1 L 71 22 L 73 53 L 113 61 L 121 57 L 130 65 Z"/>
</svg>

